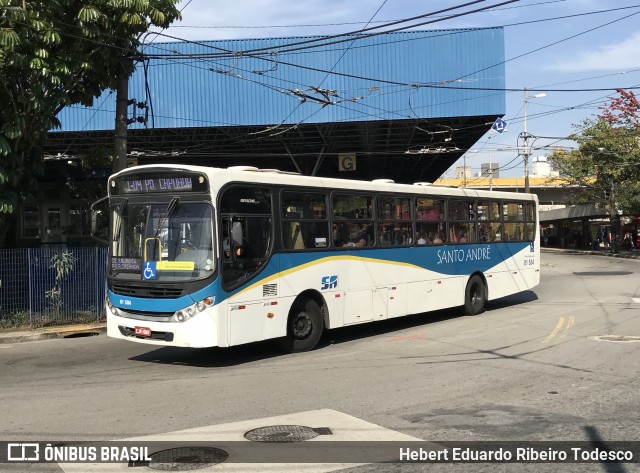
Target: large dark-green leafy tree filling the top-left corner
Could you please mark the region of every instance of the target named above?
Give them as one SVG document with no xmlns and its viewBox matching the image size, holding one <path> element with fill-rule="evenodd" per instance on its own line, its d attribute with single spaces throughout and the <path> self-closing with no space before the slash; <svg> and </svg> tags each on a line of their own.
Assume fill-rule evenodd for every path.
<svg viewBox="0 0 640 473">
<path fill-rule="evenodd" d="M 178 19 L 178 2 L 0 0 L 0 228 L 34 187 L 56 115 L 130 76 L 142 34 Z"/>
</svg>

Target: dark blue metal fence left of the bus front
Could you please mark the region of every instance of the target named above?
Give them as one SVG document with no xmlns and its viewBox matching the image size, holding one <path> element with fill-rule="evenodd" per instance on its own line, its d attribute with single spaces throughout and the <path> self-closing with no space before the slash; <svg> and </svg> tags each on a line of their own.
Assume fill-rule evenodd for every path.
<svg viewBox="0 0 640 473">
<path fill-rule="evenodd" d="M 0 250 L 0 327 L 104 319 L 106 248 Z"/>
</svg>

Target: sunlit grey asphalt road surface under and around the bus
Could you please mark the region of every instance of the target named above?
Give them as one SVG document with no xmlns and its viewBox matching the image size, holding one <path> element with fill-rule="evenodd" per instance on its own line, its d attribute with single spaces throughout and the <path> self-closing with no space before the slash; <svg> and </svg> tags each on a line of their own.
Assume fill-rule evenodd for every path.
<svg viewBox="0 0 640 473">
<path fill-rule="evenodd" d="M 540 286 L 480 316 L 452 309 L 340 329 L 308 353 L 285 355 L 272 343 L 155 348 L 106 335 L 0 345 L 0 440 L 125 439 L 330 409 L 435 442 L 640 441 L 640 342 L 631 338 L 640 338 L 640 261 L 548 253 L 542 261 Z M 20 468 L 9 471 L 62 471 Z"/>
</svg>

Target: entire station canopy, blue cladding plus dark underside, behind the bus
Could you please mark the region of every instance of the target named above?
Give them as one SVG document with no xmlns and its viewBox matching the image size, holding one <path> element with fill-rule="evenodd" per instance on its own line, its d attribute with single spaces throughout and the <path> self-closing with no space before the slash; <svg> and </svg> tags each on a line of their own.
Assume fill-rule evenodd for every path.
<svg viewBox="0 0 640 473">
<path fill-rule="evenodd" d="M 129 81 L 137 164 L 435 181 L 504 115 L 501 28 L 152 43 Z M 67 107 L 46 155 L 111 150 L 115 93 Z"/>
</svg>

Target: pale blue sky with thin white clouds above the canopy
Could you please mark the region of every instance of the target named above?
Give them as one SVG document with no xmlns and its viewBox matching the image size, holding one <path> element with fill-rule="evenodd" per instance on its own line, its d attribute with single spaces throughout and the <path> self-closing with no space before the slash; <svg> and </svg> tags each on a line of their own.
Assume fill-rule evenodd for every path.
<svg viewBox="0 0 640 473">
<path fill-rule="evenodd" d="M 468 0 L 467 0 L 468 1 Z M 183 0 L 182 20 L 164 33 L 190 40 L 330 35 L 367 24 L 401 20 L 467 3 L 464 0 Z M 531 160 L 579 131 L 600 113 L 615 89 L 640 87 L 640 0 L 505 0 L 477 2 L 466 11 L 495 8 L 422 26 L 419 30 L 503 26 L 505 36 L 506 131 L 486 133 L 466 155 L 473 174 L 486 162 L 501 177 L 524 175 L 521 156 L 524 89 Z M 166 41 L 166 39 L 162 39 Z M 606 89 L 606 90 L 585 90 Z M 543 92 L 544 91 L 544 92 Z M 532 95 L 545 93 L 535 98 Z M 520 155 L 520 156 L 519 156 Z M 445 176 L 453 177 L 455 167 Z"/>
</svg>

